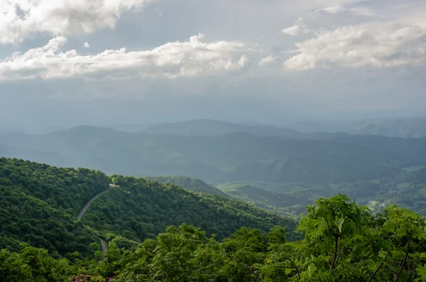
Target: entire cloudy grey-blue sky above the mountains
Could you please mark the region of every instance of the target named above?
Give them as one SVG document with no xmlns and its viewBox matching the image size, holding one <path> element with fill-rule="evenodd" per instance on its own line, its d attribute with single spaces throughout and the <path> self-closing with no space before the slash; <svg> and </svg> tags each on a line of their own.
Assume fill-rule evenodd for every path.
<svg viewBox="0 0 426 282">
<path fill-rule="evenodd" d="M 0 126 L 426 114 L 424 0 L 0 0 Z"/>
</svg>

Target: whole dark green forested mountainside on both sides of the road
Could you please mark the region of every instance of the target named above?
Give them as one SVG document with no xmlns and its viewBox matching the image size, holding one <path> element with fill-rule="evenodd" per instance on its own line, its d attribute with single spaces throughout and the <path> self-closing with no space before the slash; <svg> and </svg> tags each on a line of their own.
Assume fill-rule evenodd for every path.
<svg viewBox="0 0 426 282">
<path fill-rule="evenodd" d="M 119 187 L 109 188 L 113 181 Z M 107 192 L 104 192 L 107 191 Z M 80 210 L 95 200 L 82 218 Z M 193 224 L 209 235 L 229 236 L 241 227 L 267 232 L 295 222 L 244 202 L 195 194 L 154 180 L 113 175 L 97 170 L 56 168 L 0 158 L 0 248 L 18 251 L 19 244 L 43 247 L 53 256 L 90 256 L 99 238 L 119 237 L 123 246 L 155 238 L 171 224 Z"/>
</svg>

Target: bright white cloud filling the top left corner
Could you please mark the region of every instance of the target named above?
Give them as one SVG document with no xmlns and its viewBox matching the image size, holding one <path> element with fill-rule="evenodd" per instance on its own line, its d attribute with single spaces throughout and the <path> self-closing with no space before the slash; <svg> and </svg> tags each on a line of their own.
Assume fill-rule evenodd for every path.
<svg viewBox="0 0 426 282">
<path fill-rule="evenodd" d="M 9 0 L 0 4 L 0 43 L 21 42 L 37 33 L 72 36 L 114 28 L 124 11 L 155 0 Z"/>
</svg>

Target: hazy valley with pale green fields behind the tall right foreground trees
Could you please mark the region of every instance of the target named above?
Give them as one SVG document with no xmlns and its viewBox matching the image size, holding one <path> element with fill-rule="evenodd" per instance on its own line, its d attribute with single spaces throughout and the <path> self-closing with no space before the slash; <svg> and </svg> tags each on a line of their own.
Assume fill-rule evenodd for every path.
<svg viewBox="0 0 426 282">
<path fill-rule="evenodd" d="M 404 168 L 395 175 L 337 185 L 297 185 L 283 183 L 222 183 L 218 188 L 230 197 L 279 214 L 300 215 L 305 206 L 319 197 L 344 193 L 371 210 L 394 203 L 426 215 L 426 166 Z"/>
</svg>

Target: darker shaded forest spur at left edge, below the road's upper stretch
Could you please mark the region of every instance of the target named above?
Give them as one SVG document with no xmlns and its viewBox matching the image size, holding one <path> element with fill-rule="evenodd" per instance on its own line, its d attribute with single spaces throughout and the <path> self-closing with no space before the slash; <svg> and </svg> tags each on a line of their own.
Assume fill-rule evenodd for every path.
<svg viewBox="0 0 426 282">
<path fill-rule="evenodd" d="M 21 242 L 70 256 L 74 251 L 90 255 L 93 232 L 74 217 L 13 186 L 0 185 L 0 248 L 17 251 Z"/>
</svg>

